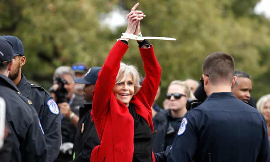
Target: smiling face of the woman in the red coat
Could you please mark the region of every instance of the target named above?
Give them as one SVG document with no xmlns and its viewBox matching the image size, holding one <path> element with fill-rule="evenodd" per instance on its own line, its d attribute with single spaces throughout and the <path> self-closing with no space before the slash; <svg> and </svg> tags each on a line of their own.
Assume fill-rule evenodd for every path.
<svg viewBox="0 0 270 162">
<path fill-rule="evenodd" d="M 120 79 L 121 80 L 121 79 Z M 134 83 L 130 74 L 121 83 L 116 83 L 113 87 L 113 93 L 117 100 L 129 106 L 129 102 L 134 95 Z"/>
</svg>

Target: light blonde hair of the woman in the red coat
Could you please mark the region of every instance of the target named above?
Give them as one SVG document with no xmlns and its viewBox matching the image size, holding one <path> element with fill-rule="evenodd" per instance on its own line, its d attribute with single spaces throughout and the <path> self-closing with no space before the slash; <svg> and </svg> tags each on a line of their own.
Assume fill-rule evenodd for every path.
<svg viewBox="0 0 270 162">
<path fill-rule="evenodd" d="M 128 74 L 132 76 L 134 85 L 134 94 L 136 94 L 141 86 L 140 86 L 140 74 L 135 66 L 127 65 L 121 62 L 115 83 L 123 82 L 127 78 Z"/>
</svg>

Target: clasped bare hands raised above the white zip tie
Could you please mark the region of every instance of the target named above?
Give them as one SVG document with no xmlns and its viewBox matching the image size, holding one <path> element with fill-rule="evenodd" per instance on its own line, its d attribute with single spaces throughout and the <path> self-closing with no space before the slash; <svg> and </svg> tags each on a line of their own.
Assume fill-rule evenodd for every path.
<svg viewBox="0 0 270 162">
<path fill-rule="evenodd" d="M 140 23 L 140 20 L 142 20 L 145 17 L 145 15 L 143 14 L 142 11 L 136 10 L 136 8 L 138 6 L 139 6 L 139 3 L 137 3 L 136 5 L 134 5 L 131 8 L 130 13 L 127 14 L 126 19 L 128 19 L 128 24 L 127 24 L 126 33 L 135 34 L 135 32 L 136 33 L 139 33 L 140 32 L 140 25 L 138 26 L 138 24 Z"/>
</svg>

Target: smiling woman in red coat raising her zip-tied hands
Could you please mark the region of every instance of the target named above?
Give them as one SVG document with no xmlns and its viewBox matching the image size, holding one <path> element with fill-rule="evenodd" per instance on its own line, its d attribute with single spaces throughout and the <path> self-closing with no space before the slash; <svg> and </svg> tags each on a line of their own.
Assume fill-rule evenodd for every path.
<svg viewBox="0 0 270 162">
<path fill-rule="evenodd" d="M 126 33 L 139 35 L 137 3 L 127 15 Z M 136 10 L 136 11 L 135 11 Z M 151 105 L 160 83 L 161 69 L 153 46 L 147 40 L 139 43 L 146 78 L 139 84 L 134 66 L 120 63 L 128 49 L 128 39 L 120 39 L 111 49 L 99 73 L 93 92 L 92 118 L 101 144 L 93 149 L 91 162 L 152 162 L 153 123 Z"/>
</svg>

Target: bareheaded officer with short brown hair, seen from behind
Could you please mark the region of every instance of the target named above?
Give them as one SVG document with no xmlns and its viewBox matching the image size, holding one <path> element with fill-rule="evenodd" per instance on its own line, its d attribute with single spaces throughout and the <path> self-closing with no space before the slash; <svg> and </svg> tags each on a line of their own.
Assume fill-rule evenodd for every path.
<svg viewBox="0 0 270 162">
<path fill-rule="evenodd" d="M 269 162 L 265 119 L 231 92 L 234 59 L 223 52 L 202 66 L 207 100 L 188 111 L 168 154 L 168 162 Z"/>
</svg>

